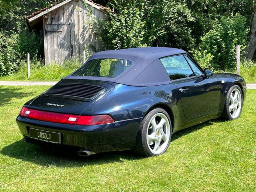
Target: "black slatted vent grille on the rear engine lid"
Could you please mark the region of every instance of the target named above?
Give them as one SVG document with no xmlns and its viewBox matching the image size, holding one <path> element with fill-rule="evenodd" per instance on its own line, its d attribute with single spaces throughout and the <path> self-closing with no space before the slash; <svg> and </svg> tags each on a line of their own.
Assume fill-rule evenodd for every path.
<svg viewBox="0 0 256 192">
<path fill-rule="evenodd" d="M 44 95 L 90 101 L 102 94 L 104 91 L 106 91 L 106 88 L 102 86 L 84 84 L 81 82 L 60 81 L 44 92 Z"/>
</svg>

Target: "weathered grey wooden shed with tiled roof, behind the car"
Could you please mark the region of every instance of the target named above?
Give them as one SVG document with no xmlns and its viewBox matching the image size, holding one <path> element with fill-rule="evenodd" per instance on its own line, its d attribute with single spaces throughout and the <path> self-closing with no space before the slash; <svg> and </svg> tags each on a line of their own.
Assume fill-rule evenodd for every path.
<svg viewBox="0 0 256 192">
<path fill-rule="evenodd" d="M 92 14 L 88 14 L 88 10 Z M 45 63 L 61 64 L 73 56 L 82 57 L 84 46 L 90 52 L 95 48 L 103 49 L 89 22 L 92 17 L 96 20 L 105 18 L 106 10 L 106 7 L 91 0 L 65 0 L 34 12 L 25 19 L 30 30 L 43 35 Z"/>
</svg>

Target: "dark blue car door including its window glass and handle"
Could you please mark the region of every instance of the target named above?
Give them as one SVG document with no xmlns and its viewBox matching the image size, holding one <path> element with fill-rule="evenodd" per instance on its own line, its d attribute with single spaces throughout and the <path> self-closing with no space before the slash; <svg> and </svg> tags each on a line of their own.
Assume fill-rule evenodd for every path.
<svg viewBox="0 0 256 192">
<path fill-rule="evenodd" d="M 179 90 L 186 119 L 199 118 L 218 111 L 220 81 L 217 77 L 206 78 L 202 69 L 188 55 L 170 56 L 160 60 Z"/>
</svg>

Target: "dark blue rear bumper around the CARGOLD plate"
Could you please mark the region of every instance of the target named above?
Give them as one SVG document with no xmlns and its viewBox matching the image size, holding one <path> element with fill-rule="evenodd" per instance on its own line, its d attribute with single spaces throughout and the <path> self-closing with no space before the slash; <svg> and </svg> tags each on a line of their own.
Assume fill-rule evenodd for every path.
<svg viewBox="0 0 256 192">
<path fill-rule="evenodd" d="M 98 153 L 131 149 L 141 120 L 142 118 L 135 118 L 110 124 L 80 126 L 18 116 L 16 122 L 20 132 L 26 138 L 29 138 L 30 128 L 59 132 L 61 134 L 60 144 L 76 146 Z M 30 138 L 30 140 L 34 139 Z"/>
</svg>

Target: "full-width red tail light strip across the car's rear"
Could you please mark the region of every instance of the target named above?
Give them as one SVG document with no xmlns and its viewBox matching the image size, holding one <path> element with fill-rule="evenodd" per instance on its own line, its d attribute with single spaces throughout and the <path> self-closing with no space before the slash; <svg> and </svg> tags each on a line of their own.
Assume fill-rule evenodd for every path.
<svg viewBox="0 0 256 192">
<path fill-rule="evenodd" d="M 99 125 L 112 123 L 114 120 L 109 115 L 94 115 L 94 116 L 84 116 L 84 115 L 70 115 L 55 112 L 47 112 L 41 110 L 30 109 L 23 107 L 20 111 L 20 115 L 32 119 L 73 124 L 73 125 Z"/>
</svg>

